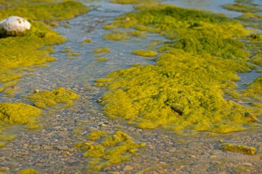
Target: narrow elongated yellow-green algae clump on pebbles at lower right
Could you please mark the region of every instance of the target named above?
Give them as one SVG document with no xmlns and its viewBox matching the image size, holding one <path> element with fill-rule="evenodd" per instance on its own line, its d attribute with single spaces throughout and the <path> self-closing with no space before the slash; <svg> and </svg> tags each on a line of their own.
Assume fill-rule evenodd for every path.
<svg viewBox="0 0 262 174">
<path fill-rule="evenodd" d="M 245 153 L 247 155 L 254 155 L 256 153 L 256 148 L 252 146 L 243 146 L 239 144 L 221 143 L 221 150 Z"/>
</svg>

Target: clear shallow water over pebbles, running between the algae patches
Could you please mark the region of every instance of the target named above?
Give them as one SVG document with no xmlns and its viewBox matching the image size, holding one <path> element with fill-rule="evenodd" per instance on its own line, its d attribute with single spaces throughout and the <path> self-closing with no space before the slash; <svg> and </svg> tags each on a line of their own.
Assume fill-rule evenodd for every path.
<svg viewBox="0 0 262 174">
<path fill-rule="evenodd" d="M 223 12 L 230 17 L 236 13 L 223 10 L 221 5 L 232 1 L 165 1 L 177 6 L 199 8 Z M 40 118 L 43 129 L 25 131 L 22 126 L 13 126 L 17 139 L 0 148 L 0 169 L 10 168 L 15 173 L 21 168 L 32 167 L 43 173 L 85 173 L 85 159 L 81 153 L 69 148 L 70 156 L 63 155 L 64 151 L 57 146 L 72 146 L 86 136 L 92 128 L 103 131 L 122 130 L 137 142 L 145 142 L 147 147 L 142 149 L 139 157 L 133 157 L 130 162 L 117 164 L 110 171 L 119 173 L 261 173 L 262 131 L 257 126 L 250 131 L 241 131 L 228 135 L 214 135 L 188 131 L 183 135 L 174 135 L 161 129 L 141 130 L 129 126 L 125 122 L 108 119 L 101 113 L 101 106 L 96 100 L 105 91 L 94 85 L 94 79 L 104 77 L 108 72 L 121 68 L 129 68 L 131 64 L 154 64 L 152 59 L 132 55 L 132 50 L 146 48 L 150 41 L 165 40 L 157 34 L 148 34 L 147 39 L 132 38 L 126 41 L 105 41 L 102 36 L 108 33 L 103 30 L 105 24 L 114 17 L 129 12 L 132 6 L 123 6 L 105 1 L 87 3 L 92 6 L 88 14 L 61 23 L 56 28 L 68 41 L 54 46 L 54 57 L 57 61 L 45 68 L 34 68 L 33 75 L 25 76 L 18 84 L 21 87 L 14 98 L 2 97 L 1 101 L 23 101 L 22 94 L 34 89 L 48 89 L 63 86 L 71 88 L 81 95 L 76 106 L 64 108 Z M 81 43 L 84 39 L 92 39 L 91 43 Z M 111 52 L 103 57 L 108 61 L 97 61 L 92 50 L 107 46 Z M 61 52 L 71 48 L 79 52 L 79 56 L 68 56 Z M 261 73 L 250 72 L 239 74 L 242 84 L 250 83 Z M 106 126 L 101 126 L 105 124 Z M 224 141 L 255 146 L 259 153 L 248 156 L 219 150 L 219 139 Z M 21 160 L 22 159 L 22 160 Z M 132 171 L 125 171 L 125 166 L 132 166 Z M 103 171 L 103 173 L 109 173 Z"/>
</svg>

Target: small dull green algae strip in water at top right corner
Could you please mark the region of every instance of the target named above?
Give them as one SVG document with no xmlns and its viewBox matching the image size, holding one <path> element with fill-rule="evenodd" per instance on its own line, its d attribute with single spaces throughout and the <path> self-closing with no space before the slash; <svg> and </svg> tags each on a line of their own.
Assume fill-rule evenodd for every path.
<svg viewBox="0 0 262 174">
<path fill-rule="evenodd" d="M 234 10 L 236 12 L 261 12 L 262 9 L 248 3 L 233 3 L 222 6 L 227 10 Z"/>
</svg>

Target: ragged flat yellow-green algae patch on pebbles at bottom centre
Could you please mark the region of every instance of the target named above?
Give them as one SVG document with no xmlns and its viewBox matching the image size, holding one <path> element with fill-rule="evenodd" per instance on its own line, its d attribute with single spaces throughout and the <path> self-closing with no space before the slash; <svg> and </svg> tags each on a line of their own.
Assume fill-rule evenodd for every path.
<svg viewBox="0 0 262 174">
<path fill-rule="evenodd" d="M 83 151 L 83 157 L 88 157 L 88 172 L 101 171 L 103 168 L 128 161 L 136 155 L 138 148 L 145 144 L 137 144 L 127 134 L 117 131 L 107 133 L 95 131 L 88 134 L 89 142 L 75 144 Z M 88 140 L 87 139 L 87 140 Z"/>
</svg>

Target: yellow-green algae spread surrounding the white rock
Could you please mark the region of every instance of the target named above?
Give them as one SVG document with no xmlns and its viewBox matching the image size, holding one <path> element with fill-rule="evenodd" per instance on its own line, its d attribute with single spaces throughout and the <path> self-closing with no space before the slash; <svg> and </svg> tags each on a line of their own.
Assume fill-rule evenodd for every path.
<svg viewBox="0 0 262 174">
<path fill-rule="evenodd" d="M 37 20 L 70 19 L 89 10 L 75 1 L 0 1 L 0 4 L 3 7 L 0 10 L 0 19 L 17 15 L 35 20 L 31 22 L 32 28 L 26 36 L 0 39 L 0 83 L 21 78 L 19 68 L 55 60 L 49 55 L 52 50 L 44 46 L 63 43 L 66 39 L 52 31 L 50 26 Z M 3 86 L 0 88 L 1 91 L 6 89 Z"/>
</svg>

